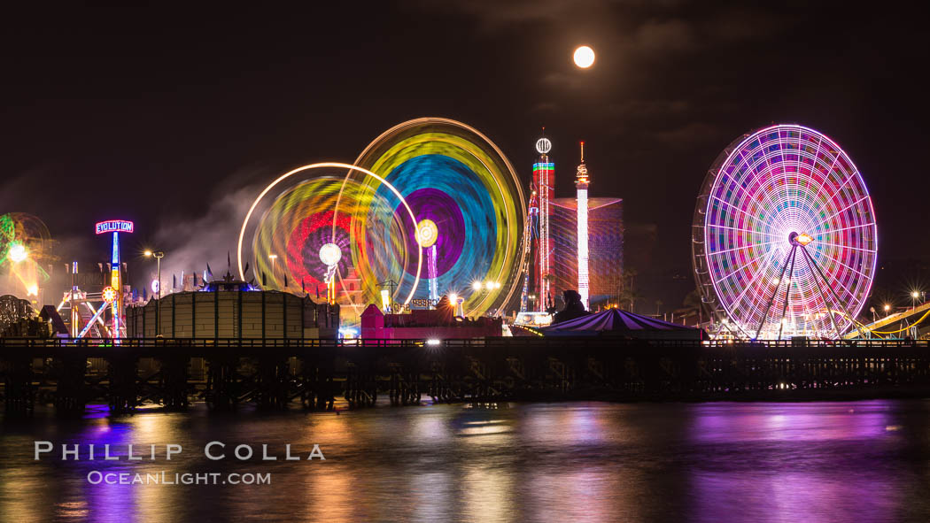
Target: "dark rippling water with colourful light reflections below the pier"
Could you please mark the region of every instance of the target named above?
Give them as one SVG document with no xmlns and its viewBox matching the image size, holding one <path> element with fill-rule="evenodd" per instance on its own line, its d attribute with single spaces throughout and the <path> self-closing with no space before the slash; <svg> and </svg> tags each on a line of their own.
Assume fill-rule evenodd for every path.
<svg viewBox="0 0 930 523">
<path fill-rule="evenodd" d="M 8 420 L 0 519 L 930 520 L 930 401 L 436 405 Z M 33 462 L 33 440 L 57 455 Z M 227 443 L 209 461 L 207 442 Z M 62 443 L 123 460 L 60 461 Z M 126 444 L 146 459 L 128 462 Z M 165 459 L 165 445 L 184 447 Z M 249 462 L 232 458 L 253 446 Z M 267 443 L 277 461 L 260 461 Z M 284 445 L 326 462 L 284 460 Z M 148 459 L 157 445 L 157 460 Z M 91 485 L 103 472 L 270 472 L 271 486 Z"/>
</svg>

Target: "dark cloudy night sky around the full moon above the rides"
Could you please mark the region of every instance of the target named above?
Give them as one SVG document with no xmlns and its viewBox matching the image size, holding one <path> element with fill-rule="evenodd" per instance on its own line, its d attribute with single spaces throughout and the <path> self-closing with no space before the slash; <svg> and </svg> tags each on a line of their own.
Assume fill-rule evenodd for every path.
<svg viewBox="0 0 930 523">
<path fill-rule="evenodd" d="M 910 7 L 318 4 L 6 11 L 0 212 L 42 217 L 67 258 L 104 259 L 93 224 L 122 217 L 136 221 L 129 250 L 157 245 L 168 262 L 198 245 L 173 268 L 224 267 L 240 200 L 289 168 L 352 162 L 392 125 L 444 116 L 484 132 L 528 183 L 545 125 L 557 196 L 573 195 L 583 139 L 591 195 L 656 227 L 655 242 L 626 245 L 646 300 L 674 304 L 693 288 L 691 216 L 711 162 L 752 129 L 798 123 L 857 163 L 880 263 L 930 259 L 914 234 L 930 186 L 927 32 Z M 571 63 L 582 44 L 597 53 L 589 71 Z"/>
</svg>

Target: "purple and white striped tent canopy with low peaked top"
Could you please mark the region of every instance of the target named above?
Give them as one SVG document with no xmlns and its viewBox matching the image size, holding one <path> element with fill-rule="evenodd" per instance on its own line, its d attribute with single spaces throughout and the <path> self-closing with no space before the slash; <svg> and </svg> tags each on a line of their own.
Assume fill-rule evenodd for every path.
<svg viewBox="0 0 930 523">
<path fill-rule="evenodd" d="M 641 339 L 691 340 L 706 337 L 701 329 L 695 327 L 657 320 L 618 308 L 553 323 L 540 329 L 540 332 L 546 336 L 613 335 Z"/>
</svg>

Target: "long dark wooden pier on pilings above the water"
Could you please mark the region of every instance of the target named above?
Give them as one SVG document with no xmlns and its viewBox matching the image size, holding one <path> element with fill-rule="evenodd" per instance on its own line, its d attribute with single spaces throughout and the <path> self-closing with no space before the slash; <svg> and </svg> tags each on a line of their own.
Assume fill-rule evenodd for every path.
<svg viewBox="0 0 930 523">
<path fill-rule="evenodd" d="M 926 341 L 0 339 L 7 414 L 194 401 L 231 410 L 425 401 L 811 399 L 930 395 Z"/>
</svg>

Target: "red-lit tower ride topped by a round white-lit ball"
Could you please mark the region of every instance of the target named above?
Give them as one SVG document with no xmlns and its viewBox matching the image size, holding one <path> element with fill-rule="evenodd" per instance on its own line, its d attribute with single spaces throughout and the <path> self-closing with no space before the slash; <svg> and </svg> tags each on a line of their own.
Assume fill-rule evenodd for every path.
<svg viewBox="0 0 930 523">
<path fill-rule="evenodd" d="M 542 128 L 545 133 L 546 128 Z M 533 163 L 533 185 L 536 188 L 538 207 L 538 256 L 534 281 L 537 291 L 538 311 L 546 310 L 551 299 L 551 268 L 552 268 L 552 242 L 551 242 L 551 203 L 555 190 L 555 164 L 549 160 L 549 151 L 552 142 L 547 137 L 540 137 L 536 141 L 536 151 L 539 156 Z"/>
</svg>

